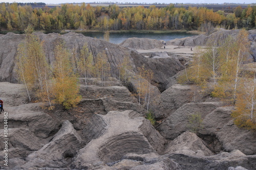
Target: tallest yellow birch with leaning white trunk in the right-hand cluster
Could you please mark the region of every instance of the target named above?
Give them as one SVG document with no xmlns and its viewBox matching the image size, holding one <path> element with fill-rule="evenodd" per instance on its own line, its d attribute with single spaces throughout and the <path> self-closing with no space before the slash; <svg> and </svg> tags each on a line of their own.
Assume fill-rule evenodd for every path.
<svg viewBox="0 0 256 170">
<path fill-rule="evenodd" d="M 248 62 L 250 42 L 246 30 L 241 30 L 236 39 L 228 38 L 219 49 L 221 66 L 220 81 L 214 90 L 217 97 L 236 104 L 238 87 L 242 76 L 242 66 Z"/>
</svg>

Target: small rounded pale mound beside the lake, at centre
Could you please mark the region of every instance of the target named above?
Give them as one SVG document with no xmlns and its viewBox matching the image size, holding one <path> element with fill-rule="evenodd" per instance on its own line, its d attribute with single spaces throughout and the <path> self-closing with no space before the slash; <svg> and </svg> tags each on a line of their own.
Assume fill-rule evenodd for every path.
<svg viewBox="0 0 256 170">
<path fill-rule="evenodd" d="M 160 48 L 163 46 L 162 41 L 148 38 L 128 38 L 119 44 L 120 46 L 131 48 L 134 50 L 148 50 Z"/>
</svg>

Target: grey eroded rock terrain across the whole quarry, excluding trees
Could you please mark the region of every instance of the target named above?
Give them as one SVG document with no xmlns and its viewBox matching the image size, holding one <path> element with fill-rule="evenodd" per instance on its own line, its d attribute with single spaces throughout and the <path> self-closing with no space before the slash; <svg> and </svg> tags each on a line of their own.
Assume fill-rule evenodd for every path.
<svg viewBox="0 0 256 170">
<path fill-rule="evenodd" d="M 192 46 L 207 41 L 202 37 L 220 36 L 222 39 L 236 34 L 236 30 L 222 31 L 168 43 Z M 255 34 L 250 31 L 252 39 Z M 1 169 L 255 169 L 256 134 L 234 125 L 230 116 L 234 107 L 225 106 L 199 87 L 177 84 L 177 73 L 189 58 L 169 53 L 155 53 L 158 57 L 146 58 L 129 49 L 128 43 L 129 48 L 126 48 L 75 33 L 37 35 L 46 42 L 50 63 L 54 61 L 54 44 L 62 39 L 67 48 L 76 52 L 84 43 L 94 57 L 105 51 L 113 77 L 118 74 L 117 65 L 126 55 L 131 59 L 131 75 L 136 75 L 139 66 L 151 68 L 155 74 L 152 83 L 159 83 L 158 88 L 152 86 L 150 102 L 157 125 L 154 127 L 145 119 L 145 108 L 131 93 L 137 83 L 132 77 L 132 85 L 126 82 L 127 87 L 116 78 L 105 82 L 105 86 L 99 86 L 93 78 L 88 79 L 88 85 L 80 79 L 82 100 L 70 110 L 56 106 L 49 111 L 41 108 L 44 103 L 29 103 L 24 86 L 10 83 L 16 82 L 13 66 L 17 41 L 24 41 L 25 37 L 12 33 L 0 35 L 0 79 L 8 81 L 0 82 L 0 94 L 8 112 L 9 138 L 9 164 L 7 167 L 0 161 Z M 145 41 L 148 40 L 134 43 L 143 49 L 157 48 L 156 40 Z M 251 44 L 253 48 L 254 41 Z M 193 133 L 189 118 L 196 114 L 200 115 L 200 126 Z M 4 125 L 3 112 L 0 124 Z M 4 132 L 1 126 L 1 141 L 5 140 Z M 6 144 L 1 142 L 1 158 L 6 154 L 5 148 Z"/>
</svg>

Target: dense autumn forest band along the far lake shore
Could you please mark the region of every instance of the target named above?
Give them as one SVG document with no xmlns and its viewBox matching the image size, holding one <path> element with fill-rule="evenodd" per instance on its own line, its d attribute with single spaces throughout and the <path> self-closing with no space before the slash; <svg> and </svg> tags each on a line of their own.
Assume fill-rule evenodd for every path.
<svg viewBox="0 0 256 170">
<path fill-rule="evenodd" d="M 17 3 L 0 4 L 0 29 L 21 30 L 31 24 L 35 30 L 198 30 L 207 25 L 225 29 L 255 27 L 256 6 L 242 9 L 238 6 L 234 13 L 214 12 L 207 8 L 175 8 L 174 5 L 157 8 L 126 7 L 117 5 L 91 7 L 90 4 L 63 4 L 61 7 L 33 9 L 29 5 Z"/>
</svg>

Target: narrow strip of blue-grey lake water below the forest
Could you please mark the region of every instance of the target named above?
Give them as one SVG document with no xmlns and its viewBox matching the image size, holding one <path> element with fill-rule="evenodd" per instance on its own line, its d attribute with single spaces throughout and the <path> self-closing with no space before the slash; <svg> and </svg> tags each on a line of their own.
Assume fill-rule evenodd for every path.
<svg viewBox="0 0 256 170">
<path fill-rule="evenodd" d="M 103 33 L 84 33 L 84 36 L 104 39 Z M 195 36 L 195 34 L 187 33 L 119 33 L 119 34 L 110 34 L 110 42 L 119 44 L 127 38 L 137 37 L 137 38 L 149 38 L 156 40 L 169 41 L 175 38 L 184 38 Z"/>
</svg>

